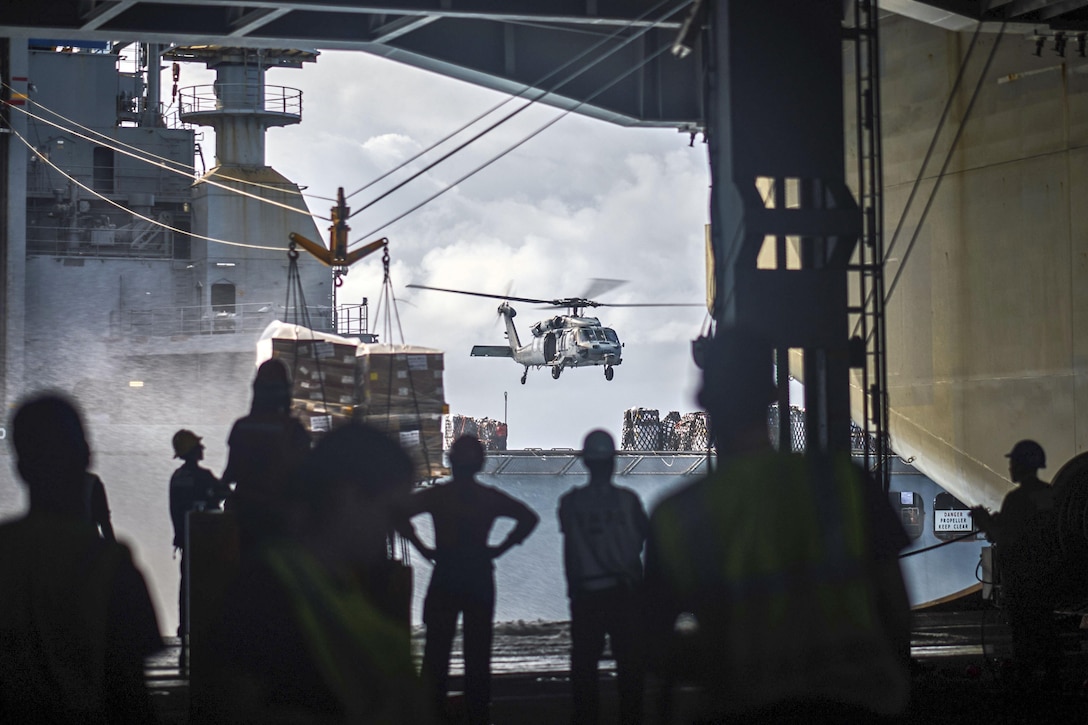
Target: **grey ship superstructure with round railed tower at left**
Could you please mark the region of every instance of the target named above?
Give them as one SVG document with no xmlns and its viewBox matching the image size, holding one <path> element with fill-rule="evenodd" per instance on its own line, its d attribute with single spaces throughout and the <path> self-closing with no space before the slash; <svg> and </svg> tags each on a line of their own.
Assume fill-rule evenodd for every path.
<svg viewBox="0 0 1088 725">
<path fill-rule="evenodd" d="M 12 145 L 25 189 L 8 191 L 26 219 L 9 403 L 48 386 L 99 422 L 223 426 L 248 405 L 260 331 L 300 312 L 286 294 L 287 235 L 320 234 L 298 186 L 265 164 L 263 134 L 300 121 L 301 93 L 270 90 L 264 69 L 317 53 L 171 49 L 165 60 L 199 60 L 219 81 L 175 88 L 181 113 L 168 127 L 162 51 L 29 44 L 28 98 L 13 112 L 25 143 Z M 215 165 L 200 177 L 188 124 L 217 131 Z M 331 328 L 327 269 L 304 258 L 299 271 L 311 324 Z"/>
</svg>

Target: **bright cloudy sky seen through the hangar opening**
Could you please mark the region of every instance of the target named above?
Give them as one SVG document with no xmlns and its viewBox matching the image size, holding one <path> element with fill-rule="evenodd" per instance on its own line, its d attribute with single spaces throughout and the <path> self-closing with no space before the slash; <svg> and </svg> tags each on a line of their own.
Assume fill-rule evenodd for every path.
<svg viewBox="0 0 1088 725">
<path fill-rule="evenodd" d="M 169 64 L 168 64 L 169 65 Z M 172 82 L 164 76 L 166 98 Z M 182 87 L 210 83 L 213 74 L 184 64 Z M 269 85 L 302 90 L 302 121 L 271 128 L 267 162 L 332 199 L 396 168 L 508 96 L 351 51 L 325 51 L 302 70 L 273 69 Z M 523 103 L 504 106 L 489 121 Z M 400 221 L 405 210 L 508 149 L 562 111 L 536 105 L 450 160 L 408 183 L 349 221 L 353 242 L 390 239 L 391 280 L 404 342 L 445 352 L 450 413 L 505 418 L 510 447 L 581 446 L 585 432 L 604 428 L 618 438 L 630 407 L 688 413 L 697 369 L 691 341 L 706 324 L 705 307 L 598 308 L 625 344 L 615 379 L 603 368 L 567 369 L 553 380 L 503 358 L 470 358 L 474 344 L 505 344 L 497 300 L 409 290 L 425 284 L 535 298 L 582 295 L 594 278 L 626 280 L 601 296 L 608 303 L 705 300 L 704 225 L 708 221 L 706 149 L 676 130 L 627 128 L 576 113 Z M 358 210 L 394 183 L 482 128 L 457 136 L 388 180 L 351 196 Z M 212 165 L 214 142 L 201 142 Z M 199 162 L 198 162 L 199 169 Z M 308 199 L 327 217 L 332 202 Z M 318 222 L 326 234 L 327 222 Z M 327 243 L 327 235 L 325 235 Z M 370 299 L 371 328 L 382 317 L 379 255 L 345 278 L 341 304 Z M 522 341 L 529 325 L 554 312 L 515 304 Z M 381 324 L 378 332 L 383 332 Z M 388 335 L 382 335 L 391 342 Z M 396 327 L 392 342 L 401 342 Z"/>
</svg>

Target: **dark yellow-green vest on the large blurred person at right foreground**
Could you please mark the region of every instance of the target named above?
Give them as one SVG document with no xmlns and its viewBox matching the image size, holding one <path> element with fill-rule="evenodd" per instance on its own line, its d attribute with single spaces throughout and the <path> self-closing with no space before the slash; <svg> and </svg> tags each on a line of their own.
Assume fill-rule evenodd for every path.
<svg viewBox="0 0 1088 725">
<path fill-rule="evenodd" d="M 875 486 L 848 456 L 766 452 L 724 460 L 655 508 L 653 611 L 666 627 L 692 615 L 684 658 L 716 710 L 807 699 L 905 710 L 906 663 L 876 599 Z"/>
</svg>

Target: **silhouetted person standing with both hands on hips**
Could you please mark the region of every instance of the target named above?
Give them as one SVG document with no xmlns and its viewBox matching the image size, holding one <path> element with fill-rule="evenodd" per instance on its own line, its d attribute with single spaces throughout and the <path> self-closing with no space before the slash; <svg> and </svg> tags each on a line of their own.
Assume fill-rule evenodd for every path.
<svg viewBox="0 0 1088 725">
<path fill-rule="evenodd" d="M 540 521 L 520 501 L 475 480 L 483 459 L 483 445 L 474 437 L 462 435 L 454 441 L 449 448 L 453 480 L 412 494 L 399 527 L 405 538 L 434 562 L 423 603 L 424 683 L 441 711 L 445 708 L 457 616 L 463 614 L 465 699 L 473 724 L 489 722 L 494 560 L 524 541 Z M 434 548 L 420 541 L 411 525 L 410 519 L 420 514 L 430 514 L 434 520 Z M 500 544 L 491 545 L 491 529 L 496 519 L 504 517 L 512 518 L 516 526 Z"/>
</svg>

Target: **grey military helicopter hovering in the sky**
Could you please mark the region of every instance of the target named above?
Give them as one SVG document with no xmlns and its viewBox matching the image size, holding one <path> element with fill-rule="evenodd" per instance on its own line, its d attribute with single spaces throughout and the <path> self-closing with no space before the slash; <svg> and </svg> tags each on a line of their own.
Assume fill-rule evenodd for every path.
<svg viewBox="0 0 1088 725">
<path fill-rule="evenodd" d="M 623 284 L 622 280 L 593 280 L 591 291 L 596 294 L 615 288 Z M 529 368 L 541 368 L 548 366 L 552 368 L 552 378 L 559 379 L 565 368 L 582 368 L 590 366 L 604 366 L 605 380 L 611 380 L 615 376 L 615 367 L 622 362 L 623 343 L 619 335 L 611 328 L 606 328 L 601 320 L 595 317 L 586 317 L 585 309 L 589 307 L 701 307 L 698 304 L 688 303 L 601 303 L 589 299 L 586 295 L 581 297 L 559 297 L 557 299 L 537 299 L 534 297 L 515 297 L 511 295 L 496 295 L 485 292 L 469 292 L 467 290 L 449 290 L 446 287 L 432 287 L 424 284 L 406 285 L 416 290 L 432 290 L 434 292 L 449 292 L 458 295 L 471 295 L 474 297 L 489 297 L 502 299 L 498 306 L 498 315 L 506 322 L 506 345 L 474 345 L 472 357 L 509 357 L 518 365 L 524 366 L 521 373 L 521 384 L 526 384 L 529 377 Z M 545 320 L 540 320 L 530 327 L 532 339 L 522 345 L 518 331 L 514 325 L 514 318 L 517 310 L 511 306 L 511 302 L 528 303 L 532 305 L 545 305 L 557 309 L 566 309 L 567 315 L 555 315 Z"/>
</svg>

